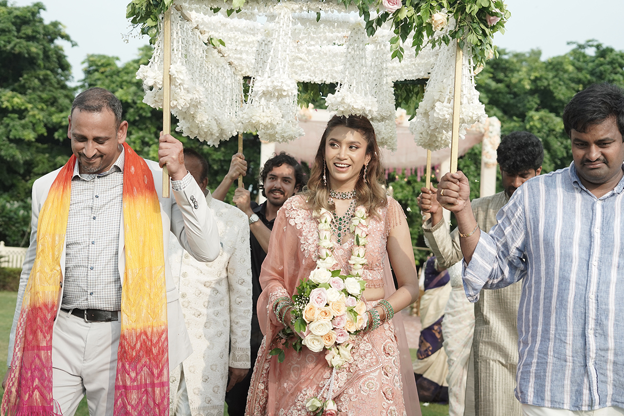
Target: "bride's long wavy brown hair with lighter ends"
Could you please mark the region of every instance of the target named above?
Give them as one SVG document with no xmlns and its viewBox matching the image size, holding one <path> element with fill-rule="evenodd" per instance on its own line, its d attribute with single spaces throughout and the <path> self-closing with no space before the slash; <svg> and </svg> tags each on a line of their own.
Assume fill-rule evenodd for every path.
<svg viewBox="0 0 624 416">
<path fill-rule="evenodd" d="M 356 184 L 356 202 L 358 206 L 368 209 L 369 215 L 379 215 L 378 210 L 388 204 L 386 190 L 382 186 L 384 180 L 384 167 L 381 162 L 381 152 L 377 145 L 377 139 L 373 125 L 364 116 L 334 116 L 327 123 L 327 127 L 318 145 L 314 164 L 310 171 L 308 185 L 303 190 L 303 195 L 308 202 L 310 210 L 324 208 L 334 210 L 334 204 L 329 204 L 329 178 L 328 184 L 323 183 L 323 167 L 325 166 L 325 144 L 329 133 L 338 126 L 348 127 L 358 131 L 366 140 L 366 154 L 371 156 L 364 181 L 364 167 L 359 172 Z"/>
</svg>

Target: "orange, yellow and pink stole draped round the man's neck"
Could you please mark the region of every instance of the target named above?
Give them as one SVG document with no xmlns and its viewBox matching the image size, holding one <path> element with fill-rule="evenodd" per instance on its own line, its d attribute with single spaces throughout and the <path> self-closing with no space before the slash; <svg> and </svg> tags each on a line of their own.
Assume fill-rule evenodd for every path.
<svg viewBox="0 0 624 416">
<path fill-rule="evenodd" d="M 154 177 L 124 143 L 125 276 L 115 378 L 116 415 L 168 415 L 167 293 L 162 217 Z M 54 415 L 52 329 L 62 283 L 76 156 L 52 183 L 37 225 L 37 255 L 24 291 L 0 413 Z"/>
</svg>

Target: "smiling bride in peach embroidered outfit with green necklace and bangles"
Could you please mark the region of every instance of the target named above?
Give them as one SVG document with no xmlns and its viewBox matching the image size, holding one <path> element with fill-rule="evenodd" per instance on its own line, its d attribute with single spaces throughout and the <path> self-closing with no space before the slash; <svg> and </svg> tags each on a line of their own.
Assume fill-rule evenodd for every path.
<svg viewBox="0 0 624 416">
<path fill-rule="evenodd" d="M 400 315 L 391 319 L 417 298 L 414 253 L 401 206 L 381 186 L 379 154 L 368 119 L 334 116 L 321 137 L 306 191 L 291 197 L 278 212 L 260 275 L 263 292 L 258 299 L 258 320 L 265 339 L 251 379 L 247 415 L 309 415 L 306 404 L 311 397 L 333 400 L 337 409 L 328 408 L 324 415 L 421 414 L 409 355 L 407 360 L 399 359 L 398 339 L 404 339 L 404 330 L 402 322 L 395 324 Z M 339 268 L 346 275 L 352 272 L 349 260 L 356 244 L 349 225 L 361 207 L 368 221 L 361 274 L 366 282 L 363 298 L 368 324 L 349 341 L 351 360 L 333 371 L 326 350 L 313 352 L 304 346 L 300 352 L 286 348 L 280 362 L 269 352 L 282 347 L 280 330 L 291 327 L 294 331 L 293 305 L 288 299 L 322 258 L 314 213 L 320 209 L 332 213 L 336 265 L 331 269 Z M 409 354 L 407 349 L 402 352 Z M 401 364 L 406 372 L 401 372 Z M 327 397 L 329 392 L 331 397 Z"/>
</svg>

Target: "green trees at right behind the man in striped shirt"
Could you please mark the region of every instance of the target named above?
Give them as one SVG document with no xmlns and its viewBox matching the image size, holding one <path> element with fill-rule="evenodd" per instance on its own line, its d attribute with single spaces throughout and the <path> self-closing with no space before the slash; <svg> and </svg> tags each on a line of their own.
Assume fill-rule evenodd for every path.
<svg viewBox="0 0 624 416">
<path fill-rule="evenodd" d="M 502 50 L 477 76 L 480 101 L 489 116 L 499 117 L 502 134 L 529 131 L 544 144 L 544 172 L 572 162 L 562 114 L 574 94 L 593 83 L 624 87 L 624 52 L 597 41 L 545 61 L 541 52 Z"/>
</svg>

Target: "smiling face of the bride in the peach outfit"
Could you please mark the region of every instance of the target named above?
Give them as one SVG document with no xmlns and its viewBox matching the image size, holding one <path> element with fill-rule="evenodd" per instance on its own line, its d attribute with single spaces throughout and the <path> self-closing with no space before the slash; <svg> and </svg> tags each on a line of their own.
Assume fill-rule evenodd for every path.
<svg viewBox="0 0 624 416">
<path fill-rule="evenodd" d="M 368 164 L 368 142 L 354 129 L 337 126 L 329 132 L 325 142 L 325 162 L 331 189 L 351 191 L 358 182 L 359 172 Z"/>
</svg>

